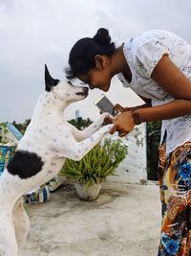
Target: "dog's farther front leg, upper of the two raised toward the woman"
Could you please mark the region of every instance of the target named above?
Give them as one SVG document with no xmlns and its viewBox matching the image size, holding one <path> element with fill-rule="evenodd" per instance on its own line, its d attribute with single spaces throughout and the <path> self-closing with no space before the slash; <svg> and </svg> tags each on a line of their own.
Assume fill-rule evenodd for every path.
<svg viewBox="0 0 191 256">
<path fill-rule="evenodd" d="M 104 122 L 104 119 L 106 116 L 108 116 L 109 113 L 103 113 L 100 115 L 100 117 L 93 123 L 91 124 L 88 128 L 85 128 L 83 130 L 79 130 L 77 128 L 72 128 L 74 137 L 77 141 L 82 141 L 88 137 L 90 137 L 92 134 L 98 130 Z"/>
</svg>

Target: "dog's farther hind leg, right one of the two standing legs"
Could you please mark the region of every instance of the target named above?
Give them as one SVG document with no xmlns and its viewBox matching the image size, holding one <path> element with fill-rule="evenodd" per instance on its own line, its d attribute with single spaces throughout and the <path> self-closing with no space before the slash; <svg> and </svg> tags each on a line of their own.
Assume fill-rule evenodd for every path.
<svg viewBox="0 0 191 256">
<path fill-rule="evenodd" d="M 12 215 L 16 241 L 18 244 L 18 255 L 21 255 L 21 251 L 26 243 L 27 235 L 30 231 L 30 220 L 23 207 L 22 198 L 16 202 Z"/>
</svg>

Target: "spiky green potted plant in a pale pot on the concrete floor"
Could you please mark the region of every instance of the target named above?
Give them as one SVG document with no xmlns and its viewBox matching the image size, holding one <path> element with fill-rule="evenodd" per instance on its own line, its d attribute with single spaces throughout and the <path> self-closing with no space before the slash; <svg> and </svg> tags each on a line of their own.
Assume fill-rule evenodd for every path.
<svg viewBox="0 0 191 256">
<path fill-rule="evenodd" d="M 126 157 L 127 150 L 127 146 L 120 139 L 106 138 L 80 161 L 67 159 L 60 175 L 65 175 L 74 181 L 79 198 L 96 199 L 101 189 L 101 182 L 108 175 L 116 175 L 116 169 Z"/>
</svg>

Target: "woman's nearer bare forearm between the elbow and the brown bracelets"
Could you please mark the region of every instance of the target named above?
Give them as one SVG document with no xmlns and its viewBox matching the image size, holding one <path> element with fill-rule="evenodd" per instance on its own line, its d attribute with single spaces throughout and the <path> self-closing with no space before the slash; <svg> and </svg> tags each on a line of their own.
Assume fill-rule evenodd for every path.
<svg viewBox="0 0 191 256">
<path fill-rule="evenodd" d="M 191 101 L 174 100 L 168 104 L 138 108 L 141 122 L 158 121 L 191 114 Z"/>
</svg>

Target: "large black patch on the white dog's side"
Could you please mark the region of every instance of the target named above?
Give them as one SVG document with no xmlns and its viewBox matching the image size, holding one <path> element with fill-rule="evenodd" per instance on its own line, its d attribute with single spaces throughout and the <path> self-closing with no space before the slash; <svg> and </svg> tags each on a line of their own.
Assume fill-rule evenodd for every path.
<svg viewBox="0 0 191 256">
<path fill-rule="evenodd" d="M 16 151 L 7 169 L 11 175 L 28 178 L 42 170 L 44 162 L 34 152 Z"/>
</svg>

